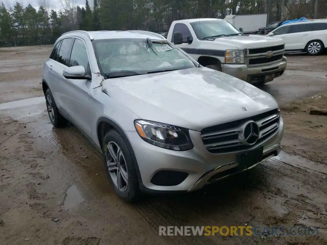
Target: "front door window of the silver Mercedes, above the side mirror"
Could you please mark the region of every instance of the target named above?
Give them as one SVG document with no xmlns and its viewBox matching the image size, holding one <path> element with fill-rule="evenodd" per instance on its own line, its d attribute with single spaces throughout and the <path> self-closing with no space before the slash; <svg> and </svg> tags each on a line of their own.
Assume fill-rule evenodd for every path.
<svg viewBox="0 0 327 245">
<path fill-rule="evenodd" d="M 80 39 L 75 39 L 70 55 L 69 66 L 83 66 L 85 71 L 88 69 L 89 58 L 87 56 L 86 46 Z"/>
</svg>

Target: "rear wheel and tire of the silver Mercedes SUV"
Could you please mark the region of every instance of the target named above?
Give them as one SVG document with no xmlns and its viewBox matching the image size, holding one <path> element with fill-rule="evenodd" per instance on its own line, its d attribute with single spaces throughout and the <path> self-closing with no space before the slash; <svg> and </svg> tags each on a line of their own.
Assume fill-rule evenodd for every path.
<svg viewBox="0 0 327 245">
<path fill-rule="evenodd" d="M 45 91 L 45 103 L 48 111 L 48 116 L 50 119 L 50 122 L 55 126 L 56 128 L 65 127 L 68 123 L 68 120 L 64 118 L 60 112 L 58 111 L 58 108 L 55 103 L 55 99 L 52 96 L 52 93 L 50 89 L 47 89 Z"/>
</svg>

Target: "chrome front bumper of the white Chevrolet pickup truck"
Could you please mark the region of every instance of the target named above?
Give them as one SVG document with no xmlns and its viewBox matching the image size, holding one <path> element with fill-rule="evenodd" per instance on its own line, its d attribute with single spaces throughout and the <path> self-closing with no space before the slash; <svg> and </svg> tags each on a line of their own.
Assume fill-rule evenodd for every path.
<svg viewBox="0 0 327 245">
<path fill-rule="evenodd" d="M 284 74 L 286 65 L 287 58 L 284 56 L 282 61 L 271 65 L 247 67 L 245 64 L 222 64 L 221 70 L 248 83 L 267 83 Z"/>
</svg>

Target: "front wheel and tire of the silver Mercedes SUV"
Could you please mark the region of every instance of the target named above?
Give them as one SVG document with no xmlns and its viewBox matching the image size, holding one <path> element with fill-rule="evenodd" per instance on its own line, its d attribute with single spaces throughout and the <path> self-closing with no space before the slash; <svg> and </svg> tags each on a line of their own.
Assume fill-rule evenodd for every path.
<svg viewBox="0 0 327 245">
<path fill-rule="evenodd" d="M 116 131 L 110 130 L 103 139 L 103 160 L 114 192 L 125 202 L 139 200 L 141 192 L 131 152 Z"/>
</svg>

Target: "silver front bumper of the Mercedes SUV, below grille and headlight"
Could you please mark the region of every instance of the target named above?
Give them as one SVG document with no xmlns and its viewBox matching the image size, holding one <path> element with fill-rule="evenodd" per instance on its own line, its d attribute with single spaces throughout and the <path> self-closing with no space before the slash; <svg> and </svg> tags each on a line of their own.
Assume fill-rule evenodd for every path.
<svg viewBox="0 0 327 245">
<path fill-rule="evenodd" d="M 214 179 L 214 181 L 240 172 L 234 171 L 231 173 L 231 169 L 235 168 L 236 170 L 238 166 L 236 159 L 239 152 L 225 154 L 210 153 L 202 142 L 200 132 L 190 130 L 190 137 L 194 148 L 183 152 L 163 149 L 149 144 L 141 139 L 136 131 L 127 131 L 125 133 L 135 153 L 142 179 L 142 183 L 140 183 L 142 190 L 148 192 L 193 191 L 212 183 L 212 177 L 217 173 L 220 173 L 220 177 Z M 283 135 L 284 122 L 281 118 L 276 134 L 257 147 L 264 146 L 263 155 L 268 156 L 268 158 L 278 155 L 280 153 L 280 142 Z M 254 166 L 250 168 L 252 167 Z M 151 183 L 152 177 L 160 171 L 177 171 L 187 173 L 188 175 L 181 183 L 173 186 L 162 186 Z M 227 171 L 226 174 L 224 174 L 225 171 Z"/>
</svg>

